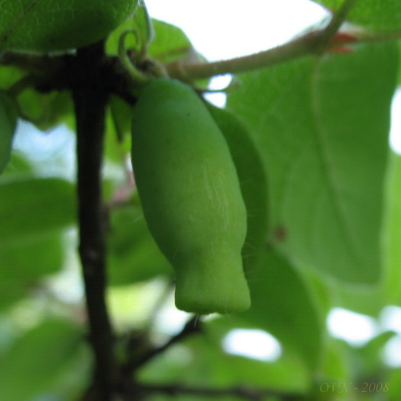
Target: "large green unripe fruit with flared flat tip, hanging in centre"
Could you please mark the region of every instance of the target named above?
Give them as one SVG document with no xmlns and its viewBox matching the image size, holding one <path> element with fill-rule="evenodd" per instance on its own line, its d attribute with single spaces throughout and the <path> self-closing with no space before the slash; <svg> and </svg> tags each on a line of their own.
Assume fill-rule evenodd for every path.
<svg viewBox="0 0 401 401">
<path fill-rule="evenodd" d="M 247 214 L 230 150 L 188 86 L 152 81 L 134 107 L 132 162 L 149 230 L 176 273 L 177 308 L 250 306 L 241 249 Z"/>
</svg>

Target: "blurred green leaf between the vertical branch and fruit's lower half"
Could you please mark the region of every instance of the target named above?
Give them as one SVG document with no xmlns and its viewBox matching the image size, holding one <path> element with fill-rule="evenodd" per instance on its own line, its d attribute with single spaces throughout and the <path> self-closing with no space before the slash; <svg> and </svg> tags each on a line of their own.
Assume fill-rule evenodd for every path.
<svg viewBox="0 0 401 401">
<path fill-rule="evenodd" d="M 172 268 L 154 242 L 139 206 L 115 209 L 110 220 L 108 261 L 111 285 L 172 275 Z"/>
</svg>

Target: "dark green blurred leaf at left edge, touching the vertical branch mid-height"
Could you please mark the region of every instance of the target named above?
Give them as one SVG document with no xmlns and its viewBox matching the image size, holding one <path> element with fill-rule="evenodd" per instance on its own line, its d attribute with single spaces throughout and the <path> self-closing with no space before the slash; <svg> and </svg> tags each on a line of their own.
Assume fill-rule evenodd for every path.
<svg viewBox="0 0 401 401">
<path fill-rule="evenodd" d="M 75 223 L 73 185 L 59 178 L 0 183 L 0 248 L 39 239 Z"/>
</svg>

